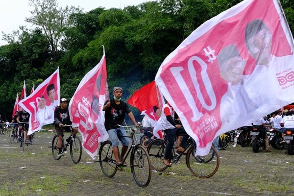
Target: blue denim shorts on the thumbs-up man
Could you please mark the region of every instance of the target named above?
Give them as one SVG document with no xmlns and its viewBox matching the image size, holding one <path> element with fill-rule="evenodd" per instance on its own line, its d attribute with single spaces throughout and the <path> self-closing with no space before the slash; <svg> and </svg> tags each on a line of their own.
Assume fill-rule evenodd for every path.
<svg viewBox="0 0 294 196">
<path fill-rule="evenodd" d="M 109 140 L 112 144 L 112 147 L 118 147 L 119 141 L 122 142 L 123 146 L 129 146 L 128 138 L 121 137 L 122 135 L 127 136 L 123 127 L 116 128 L 116 129 L 109 129 L 108 131 Z"/>
</svg>

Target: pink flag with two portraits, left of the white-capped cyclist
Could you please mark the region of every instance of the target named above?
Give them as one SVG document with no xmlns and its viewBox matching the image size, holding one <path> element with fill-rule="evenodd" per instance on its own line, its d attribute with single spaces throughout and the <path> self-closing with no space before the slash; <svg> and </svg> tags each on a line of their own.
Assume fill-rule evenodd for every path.
<svg viewBox="0 0 294 196">
<path fill-rule="evenodd" d="M 28 134 L 54 122 L 54 109 L 59 105 L 59 100 L 60 81 L 57 69 L 32 94 L 19 102 L 20 107 L 30 114 Z"/>
</svg>

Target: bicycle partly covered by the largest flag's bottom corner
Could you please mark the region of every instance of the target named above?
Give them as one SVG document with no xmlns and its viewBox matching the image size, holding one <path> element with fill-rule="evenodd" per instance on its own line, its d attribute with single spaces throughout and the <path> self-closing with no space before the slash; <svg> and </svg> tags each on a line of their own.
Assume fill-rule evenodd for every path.
<svg viewBox="0 0 294 196">
<path fill-rule="evenodd" d="M 154 139 L 147 147 L 147 152 L 150 156 L 152 168 L 162 172 L 168 168 L 163 163 L 165 149 L 167 146 L 167 137 L 165 139 Z M 189 171 L 199 178 L 209 178 L 213 176 L 219 169 L 220 156 L 215 147 L 211 147 L 213 153 L 208 153 L 206 156 L 198 156 L 196 154 L 196 142 L 189 137 L 184 151 L 177 153 L 175 146 L 172 148 L 171 164 L 176 164 L 178 160 L 186 155 L 186 165 Z M 216 160 L 214 156 L 217 156 Z"/>
</svg>

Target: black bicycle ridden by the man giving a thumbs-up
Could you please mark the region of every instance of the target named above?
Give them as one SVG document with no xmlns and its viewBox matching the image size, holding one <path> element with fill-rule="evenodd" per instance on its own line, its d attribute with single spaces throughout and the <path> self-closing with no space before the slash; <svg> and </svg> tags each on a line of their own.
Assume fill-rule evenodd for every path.
<svg viewBox="0 0 294 196">
<path fill-rule="evenodd" d="M 123 167 L 125 167 L 125 160 L 131 152 L 130 167 L 134 180 L 139 187 L 147 187 L 151 179 L 151 162 L 145 147 L 141 146 L 140 144 L 137 144 L 135 138 L 135 127 L 138 126 L 117 126 L 131 128 L 130 136 L 122 136 L 126 138 L 131 138 L 132 141 L 132 145 L 128 149 L 124 159 L 122 160 L 122 164 L 116 164 L 116 160 L 112 151 L 112 145 L 109 140 L 101 144 L 99 148 L 99 161 L 94 162 L 100 163 L 100 167 L 104 175 L 106 175 L 107 177 L 113 177 L 117 170 L 122 170 Z"/>
</svg>

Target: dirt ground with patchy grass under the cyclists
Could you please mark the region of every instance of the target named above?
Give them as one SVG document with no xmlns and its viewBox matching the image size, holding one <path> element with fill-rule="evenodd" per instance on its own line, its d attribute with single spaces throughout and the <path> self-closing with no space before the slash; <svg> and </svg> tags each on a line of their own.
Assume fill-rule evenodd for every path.
<svg viewBox="0 0 294 196">
<path fill-rule="evenodd" d="M 251 147 L 230 145 L 220 151 L 220 168 L 208 179 L 193 176 L 182 158 L 164 172 L 152 172 L 150 184 L 140 188 L 129 167 L 108 178 L 84 151 L 78 164 L 69 154 L 54 160 L 48 147 L 53 135 L 36 133 L 23 152 L 20 143 L 0 135 L 0 196 L 294 195 L 294 156 L 286 149 L 253 153 Z"/>
</svg>

